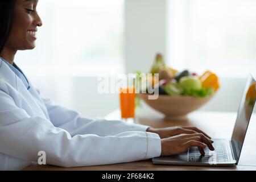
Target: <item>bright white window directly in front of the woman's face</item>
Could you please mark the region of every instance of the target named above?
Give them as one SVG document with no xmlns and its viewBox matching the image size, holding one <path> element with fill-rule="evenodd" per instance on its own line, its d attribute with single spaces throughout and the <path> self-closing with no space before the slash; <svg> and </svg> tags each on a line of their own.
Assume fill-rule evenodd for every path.
<svg viewBox="0 0 256 182">
<path fill-rule="evenodd" d="M 30 75 L 89 75 L 123 71 L 123 0 L 43 0 L 37 47 L 18 52 Z"/>
</svg>

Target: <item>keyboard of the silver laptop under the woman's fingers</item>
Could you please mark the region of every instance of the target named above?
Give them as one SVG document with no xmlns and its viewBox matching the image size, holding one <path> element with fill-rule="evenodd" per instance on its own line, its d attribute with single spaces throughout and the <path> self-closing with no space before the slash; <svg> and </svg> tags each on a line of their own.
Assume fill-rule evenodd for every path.
<svg viewBox="0 0 256 182">
<path fill-rule="evenodd" d="M 210 151 L 208 147 L 204 148 L 205 155 L 201 155 L 197 147 L 191 147 L 188 151 L 188 162 L 227 163 L 230 161 L 225 140 L 214 140 L 213 147 L 214 151 Z"/>
</svg>

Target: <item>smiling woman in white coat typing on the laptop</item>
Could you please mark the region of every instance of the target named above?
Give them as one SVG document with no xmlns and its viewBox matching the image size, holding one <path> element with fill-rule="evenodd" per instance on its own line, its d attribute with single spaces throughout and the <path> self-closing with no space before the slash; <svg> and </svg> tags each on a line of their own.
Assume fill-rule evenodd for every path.
<svg viewBox="0 0 256 182">
<path fill-rule="evenodd" d="M 122 121 L 83 118 L 42 96 L 14 63 L 18 50 L 34 49 L 42 20 L 38 0 L 0 1 L 0 169 L 22 169 L 46 152 L 62 167 L 133 162 L 174 155 L 191 146 L 214 150 L 194 127 L 154 129 Z"/>
</svg>

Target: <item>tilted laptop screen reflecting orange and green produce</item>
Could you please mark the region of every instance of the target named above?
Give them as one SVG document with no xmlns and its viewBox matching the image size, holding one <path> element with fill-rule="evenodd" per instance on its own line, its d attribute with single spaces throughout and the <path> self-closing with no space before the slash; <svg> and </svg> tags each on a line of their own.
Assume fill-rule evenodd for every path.
<svg viewBox="0 0 256 182">
<path fill-rule="evenodd" d="M 245 140 L 245 134 L 251 114 L 253 113 L 253 108 L 256 98 L 256 82 L 253 76 L 249 76 L 246 82 L 245 90 L 243 91 L 242 100 L 237 113 L 237 120 L 234 126 L 232 134 L 232 144 L 238 159 L 240 158 L 242 144 Z"/>
</svg>

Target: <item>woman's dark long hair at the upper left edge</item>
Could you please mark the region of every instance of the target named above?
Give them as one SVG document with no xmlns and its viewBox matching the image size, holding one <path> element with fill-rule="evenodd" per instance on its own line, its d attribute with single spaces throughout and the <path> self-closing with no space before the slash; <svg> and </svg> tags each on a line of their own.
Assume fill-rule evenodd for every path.
<svg viewBox="0 0 256 182">
<path fill-rule="evenodd" d="M 0 0 L 0 55 L 13 24 L 15 1 L 16 0 Z"/>
</svg>

